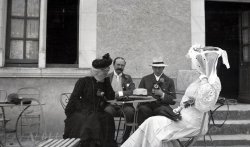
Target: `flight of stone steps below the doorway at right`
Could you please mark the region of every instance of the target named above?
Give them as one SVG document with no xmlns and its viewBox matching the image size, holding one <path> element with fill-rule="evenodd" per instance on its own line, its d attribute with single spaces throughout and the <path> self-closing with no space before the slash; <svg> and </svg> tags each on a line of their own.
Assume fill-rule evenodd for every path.
<svg viewBox="0 0 250 147">
<path fill-rule="evenodd" d="M 224 105 L 220 107 L 213 114 L 214 122 L 217 126 L 220 126 L 222 123 L 224 123 L 224 125 L 215 127 L 212 122 L 210 122 L 209 132 L 205 136 L 206 142 L 204 142 L 203 138 L 200 138 L 194 146 L 250 147 L 249 114 L 249 104 Z"/>
</svg>

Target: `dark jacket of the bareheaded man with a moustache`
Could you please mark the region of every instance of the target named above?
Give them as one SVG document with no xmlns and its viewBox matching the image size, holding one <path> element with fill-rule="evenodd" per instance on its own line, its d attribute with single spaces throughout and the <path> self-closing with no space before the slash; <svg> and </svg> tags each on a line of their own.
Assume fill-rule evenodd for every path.
<svg viewBox="0 0 250 147">
<path fill-rule="evenodd" d="M 108 77 L 110 79 L 110 83 L 112 83 L 114 76 L 114 72 L 111 72 L 108 74 Z M 121 76 L 121 83 L 122 83 L 122 89 L 123 89 L 123 95 L 124 96 L 130 96 L 133 94 L 133 90 L 135 89 L 135 84 L 133 83 L 133 80 L 130 75 L 122 73 Z"/>
</svg>

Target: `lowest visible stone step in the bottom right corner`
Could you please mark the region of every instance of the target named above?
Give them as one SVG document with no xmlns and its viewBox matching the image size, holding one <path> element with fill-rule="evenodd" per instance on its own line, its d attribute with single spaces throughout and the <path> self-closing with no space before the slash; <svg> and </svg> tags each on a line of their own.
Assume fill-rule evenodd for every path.
<svg viewBox="0 0 250 147">
<path fill-rule="evenodd" d="M 194 146 L 250 146 L 250 135 L 234 134 L 234 135 L 209 135 L 200 138 Z"/>
</svg>

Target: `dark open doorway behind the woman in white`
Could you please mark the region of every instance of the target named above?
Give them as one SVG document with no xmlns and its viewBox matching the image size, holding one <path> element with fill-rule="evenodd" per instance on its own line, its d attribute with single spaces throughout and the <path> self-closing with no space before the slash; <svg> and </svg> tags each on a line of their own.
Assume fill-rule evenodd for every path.
<svg viewBox="0 0 250 147">
<path fill-rule="evenodd" d="M 227 51 L 230 69 L 218 61 L 218 76 L 221 80 L 221 96 L 237 99 L 239 95 L 240 57 L 240 10 L 241 3 L 205 3 L 206 45 L 220 47 Z"/>
</svg>

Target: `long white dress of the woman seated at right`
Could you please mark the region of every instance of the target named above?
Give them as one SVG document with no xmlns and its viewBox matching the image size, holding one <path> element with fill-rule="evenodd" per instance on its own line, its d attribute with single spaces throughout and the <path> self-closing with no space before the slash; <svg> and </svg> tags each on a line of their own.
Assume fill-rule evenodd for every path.
<svg viewBox="0 0 250 147">
<path fill-rule="evenodd" d="M 214 58 L 218 57 L 217 55 Z M 217 60 L 214 60 L 213 65 L 210 65 L 211 69 L 206 70 L 209 73 L 200 76 L 186 89 L 181 104 L 192 97 L 195 99 L 195 105 L 181 110 L 180 121 L 175 122 L 164 116 L 150 117 L 121 147 L 163 147 L 163 140 L 164 147 L 177 147 L 176 139 L 197 135 L 200 132 L 204 112 L 214 107 L 221 90 L 221 83 L 216 75 L 216 65 Z M 208 119 L 205 124 L 208 124 Z M 207 125 L 202 132 L 207 132 Z"/>
</svg>

